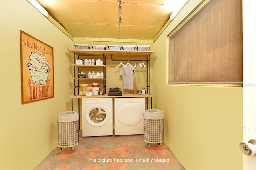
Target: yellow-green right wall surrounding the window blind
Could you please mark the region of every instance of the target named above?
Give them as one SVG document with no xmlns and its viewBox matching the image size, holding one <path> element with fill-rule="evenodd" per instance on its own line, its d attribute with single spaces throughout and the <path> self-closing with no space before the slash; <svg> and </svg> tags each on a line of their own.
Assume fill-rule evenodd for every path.
<svg viewBox="0 0 256 170">
<path fill-rule="evenodd" d="M 165 142 L 187 170 L 241 170 L 242 88 L 166 84 L 167 35 L 200 0 L 190 0 L 154 43 L 154 104 Z M 161 50 L 158 50 L 161 49 Z"/>
</svg>

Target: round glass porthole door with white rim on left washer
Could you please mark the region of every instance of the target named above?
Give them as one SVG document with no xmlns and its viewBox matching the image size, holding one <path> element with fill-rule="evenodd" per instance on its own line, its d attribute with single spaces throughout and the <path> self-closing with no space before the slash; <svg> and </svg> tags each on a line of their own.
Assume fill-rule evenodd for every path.
<svg viewBox="0 0 256 170">
<path fill-rule="evenodd" d="M 99 127 L 108 122 L 110 114 L 104 107 L 95 106 L 89 110 L 89 112 L 85 113 L 85 119 L 90 125 Z"/>
</svg>

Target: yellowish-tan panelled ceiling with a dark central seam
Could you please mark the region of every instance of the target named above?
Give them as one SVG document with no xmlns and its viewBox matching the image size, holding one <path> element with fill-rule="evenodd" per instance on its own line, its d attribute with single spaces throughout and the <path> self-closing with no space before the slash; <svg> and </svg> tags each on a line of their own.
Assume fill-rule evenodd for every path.
<svg viewBox="0 0 256 170">
<path fill-rule="evenodd" d="M 180 0 L 37 0 L 72 37 L 154 39 Z"/>
</svg>

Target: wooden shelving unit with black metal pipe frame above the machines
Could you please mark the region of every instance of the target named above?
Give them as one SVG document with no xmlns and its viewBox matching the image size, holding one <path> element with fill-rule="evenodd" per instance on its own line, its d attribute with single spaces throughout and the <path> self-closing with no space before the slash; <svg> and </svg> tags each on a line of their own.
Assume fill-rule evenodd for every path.
<svg viewBox="0 0 256 170">
<path fill-rule="evenodd" d="M 90 56 L 90 57 L 102 57 L 103 58 L 103 64 L 104 65 L 78 65 L 78 64 L 72 64 L 74 66 L 74 96 L 70 96 L 72 100 L 72 111 L 73 111 L 73 99 L 78 99 L 78 112 L 80 112 L 80 100 L 79 98 L 134 98 L 134 97 L 145 97 L 147 99 L 146 107 L 148 108 L 148 98 L 151 98 L 151 109 L 152 109 L 152 97 L 153 95 L 150 94 L 150 55 L 154 51 L 124 51 L 124 50 L 78 50 L 78 49 L 70 49 L 70 52 L 74 53 L 74 63 L 75 63 L 75 56 L 78 56 L 78 59 L 80 56 Z M 124 59 L 113 59 L 113 56 L 115 57 L 121 57 Z M 146 94 L 140 95 L 140 94 L 123 94 L 122 96 L 108 96 L 106 95 L 106 57 L 111 57 L 112 61 L 132 61 L 135 59 L 138 60 L 141 58 L 146 58 L 146 69 L 147 69 L 147 88 L 146 88 Z M 131 58 L 133 57 L 133 58 Z M 134 60 L 135 61 L 135 60 Z M 144 60 L 145 61 L 145 60 Z M 77 78 L 75 76 L 75 68 L 102 68 L 104 72 L 104 78 Z M 91 79 L 97 79 L 97 80 L 103 80 L 103 88 L 104 88 L 104 95 L 97 95 L 97 96 L 83 96 L 76 94 L 76 88 L 79 87 L 79 80 L 91 80 Z M 76 86 L 76 81 L 78 80 L 78 86 Z"/>
</svg>

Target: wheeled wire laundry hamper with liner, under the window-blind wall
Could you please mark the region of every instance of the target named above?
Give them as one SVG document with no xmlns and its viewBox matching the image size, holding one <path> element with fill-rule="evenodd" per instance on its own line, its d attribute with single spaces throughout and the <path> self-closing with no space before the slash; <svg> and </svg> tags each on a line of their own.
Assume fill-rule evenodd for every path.
<svg viewBox="0 0 256 170">
<path fill-rule="evenodd" d="M 164 111 L 149 109 L 143 113 L 144 142 L 148 147 L 150 143 L 161 143 L 164 141 Z"/>
</svg>

